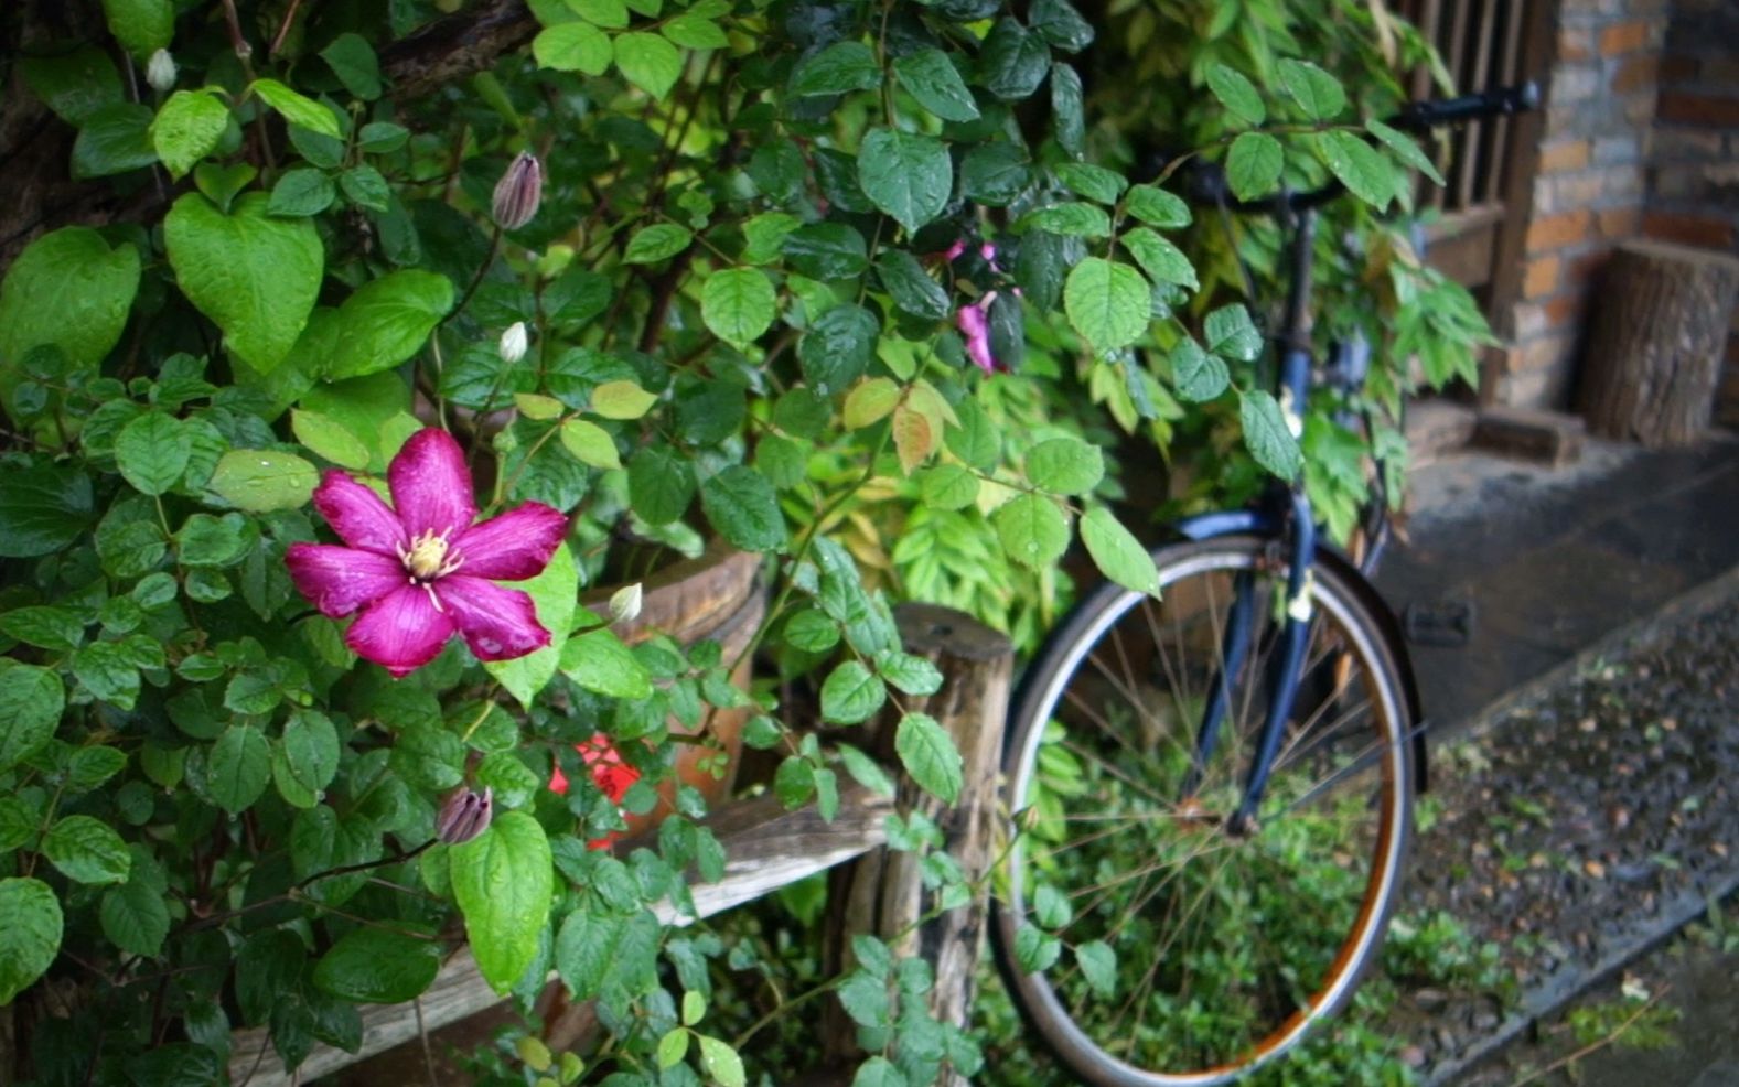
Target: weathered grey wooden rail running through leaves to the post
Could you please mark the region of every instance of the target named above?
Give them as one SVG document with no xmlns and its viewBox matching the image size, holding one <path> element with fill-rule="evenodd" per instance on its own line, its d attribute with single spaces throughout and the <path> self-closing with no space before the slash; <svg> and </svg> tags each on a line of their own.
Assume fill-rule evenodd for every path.
<svg viewBox="0 0 1739 1087">
<path fill-rule="evenodd" d="M 680 915 L 670 901 L 659 903 L 652 911 L 666 925 L 687 925 L 850 861 L 887 840 L 883 819 L 892 810 L 892 798 L 878 797 L 857 783 L 840 790 L 840 810 L 833 823 L 824 823 L 814 805 L 788 812 L 772 795 L 732 804 L 706 821 L 725 847 L 725 878 L 690 885 L 694 917 Z M 690 873 L 690 878 L 696 877 Z M 289 1087 L 409 1042 L 419 1031 L 457 1023 L 501 1000 L 476 972 L 471 950 L 459 948 L 442 964 L 435 984 L 419 1000 L 362 1009 L 360 1050 L 351 1054 L 332 1045 L 315 1045 L 290 1075 L 273 1052 L 270 1033 L 249 1028 L 231 1037 L 230 1080 L 238 1087 Z"/>
</svg>

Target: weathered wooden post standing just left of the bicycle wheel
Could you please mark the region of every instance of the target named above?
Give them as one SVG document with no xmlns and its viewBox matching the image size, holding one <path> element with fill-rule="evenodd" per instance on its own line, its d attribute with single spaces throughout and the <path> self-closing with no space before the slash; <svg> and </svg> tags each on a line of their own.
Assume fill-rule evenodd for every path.
<svg viewBox="0 0 1739 1087">
<path fill-rule="evenodd" d="M 960 748 L 960 800 L 948 807 L 901 779 L 896 809 L 903 816 L 923 814 L 941 828 L 943 849 L 953 856 L 965 878 L 977 885 L 972 899 L 932 920 L 937 896 L 923 887 L 923 857 L 915 852 L 876 849 L 852 864 L 833 871 L 830 882 L 828 950 L 838 970 L 852 962 L 850 937 L 878 936 L 897 957 L 916 955 L 936 969 L 936 988 L 929 993 L 930 1014 L 941 1023 L 965 1028 L 972 1014 L 974 979 L 984 944 L 988 880 L 998 840 L 998 769 L 1002 732 L 1009 713 L 1009 685 L 1014 675 L 1014 647 L 998 631 L 976 619 L 929 604 L 904 604 L 894 610 L 906 650 L 929 657 L 943 673 L 943 685 L 925 699 L 908 699 L 906 710 L 934 717 Z M 894 725 L 897 713 L 883 713 L 875 725 L 871 746 L 876 755 L 894 760 Z M 856 1028 L 838 1002 L 828 1007 L 823 1023 L 826 1054 L 843 1064 L 861 1056 Z M 951 1073 L 951 1085 L 967 1080 Z"/>
</svg>

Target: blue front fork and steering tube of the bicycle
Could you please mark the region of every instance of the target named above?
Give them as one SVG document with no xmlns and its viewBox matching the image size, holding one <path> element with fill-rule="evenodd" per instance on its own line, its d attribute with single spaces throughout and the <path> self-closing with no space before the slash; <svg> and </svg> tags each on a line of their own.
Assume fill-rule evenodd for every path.
<svg viewBox="0 0 1739 1087">
<path fill-rule="evenodd" d="M 1303 430 L 1301 410 L 1309 391 L 1309 297 L 1311 297 L 1311 261 L 1316 243 L 1316 210 L 1304 207 L 1292 212 L 1292 237 L 1287 242 L 1287 261 L 1292 271 L 1287 287 L 1285 320 L 1276 337 L 1280 348 L 1278 393 L 1280 410 L 1292 428 L 1294 437 Z M 1292 480 L 1289 485 L 1275 485 L 1250 510 L 1223 510 L 1203 513 L 1184 520 L 1179 529 L 1191 539 L 1224 536 L 1231 532 L 1254 532 L 1275 536 L 1285 541 L 1287 562 L 1287 623 L 1280 642 L 1280 671 L 1273 677 L 1273 689 L 1268 697 L 1268 717 L 1257 743 L 1256 760 L 1250 764 L 1243 786 L 1243 798 L 1231 817 L 1233 831 L 1247 830 L 1254 824 L 1263 793 L 1268 788 L 1268 776 L 1273 772 L 1280 741 L 1285 736 L 1287 718 L 1297 699 L 1297 687 L 1304 668 L 1304 644 L 1309 637 L 1311 600 L 1309 570 L 1316 562 L 1316 520 L 1311 515 L 1309 496 L 1304 482 Z M 1203 769 L 1214 755 L 1219 741 L 1219 727 L 1226 717 L 1231 697 L 1231 680 L 1243 670 L 1245 654 L 1250 647 L 1250 628 L 1256 617 L 1256 586 L 1250 574 L 1240 574 L 1235 584 L 1231 619 L 1226 624 L 1224 644 L 1221 645 L 1221 675 L 1210 685 L 1207 704 L 1202 710 L 1202 724 L 1196 729 L 1195 764 L 1184 781 L 1184 793 L 1193 793 L 1200 784 Z"/>
</svg>

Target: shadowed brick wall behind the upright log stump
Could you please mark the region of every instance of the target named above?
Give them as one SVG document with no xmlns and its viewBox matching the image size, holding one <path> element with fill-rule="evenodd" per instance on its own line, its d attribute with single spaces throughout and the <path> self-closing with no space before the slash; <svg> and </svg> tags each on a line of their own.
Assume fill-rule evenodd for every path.
<svg viewBox="0 0 1739 1087">
<path fill-rule="evenodd" d="M 1676 0 L 1661 56 L 1642 233 L 1739 254 L 1739 2 Z M 1739 308 L 1716 419 L 1739 424 Z"/>
</svg>

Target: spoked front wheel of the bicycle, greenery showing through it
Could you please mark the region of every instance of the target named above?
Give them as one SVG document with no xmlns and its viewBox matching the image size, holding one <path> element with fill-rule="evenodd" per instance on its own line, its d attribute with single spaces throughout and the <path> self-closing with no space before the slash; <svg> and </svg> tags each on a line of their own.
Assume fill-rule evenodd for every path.
<svg viewBox="0 0 1739 1087">
<path fill-rule="evenodd" d="M 1261 657 L 1273 649 L 1280 630 L 1278 597 L 1285 583 L 1278 555 L 1276 541 L 1256 536 L 1153 551 L 1160 600 L 1116 584 L 1099 586 L 1045 644 L 1016 694 L 1003 757 L 1016 833 L 998 873 L 993 948 L 1023 1017 L 1071 1071 L 1096 1087 L 1212 1087 L 1243 1078 L 1341 1010 L 1381 951 L 1412 826 L 1412 722 L 1383 628 L 1362 604 L 1360 591 L 1323 564 L 1309 579 L 1311 642 L 1304 675 L 1318 680 L 1334 675 L 1334 689 L 1323 692 L 1320 682 L 1301 684 L 1301 704 L 1294 708 L 1257 830 L 1236 838 L 1224 824 L 1228 809 L 1242 795 L 1240 748 L 1249 746 L 1247 732 L 1259 727 L 1266 706 L 1263 687 L 1271 670 Z M 1250 637 L 1256 656 L 1231 677 L 1231 715 L 1202 788 L 1188 804 L 1176 791 L 1172 800 L 1163 800 L 1165 786 L 1176 786 L 1184 772 L 1181 767 L 1191 762 L 1177 739 L 1179 729 L 1172 729 L 1172 743 L 1160 743 L 1158 730 L 1167 727 L 1163 717 L 1170 713 L 1174 724 L 1189 722 L 1184 725 L 1189 748 L 1200 722 L 1200 703 L 1188 677 L 1203 668 L 1196 661 L 1186 668 L 1183 650 L 1214 645 L 1205 654 L 1209 664 L 1223 656 L 1224 623 L 1212 617 L 1221 598 L 1229 609 L 1231 586 L 1242 572 L 1249 572 L 1257 604 Z M 1144 675 L 1130 668 L 1141 647 L 1134 645 L 1132 652 L 1134 638 L 1122 633 L 1123 623 L 1134 623 L 1137 612 L 1139 635 L 1153 647 Z M 1160 616 L 1165 626 L 1158 624 Z M 1209 619 L 1205 628 L 1198 623 L 1203 617 Z M 1179 650 L 1177 661 L 1165 659 L 1160 650 L 1169 642 Z M 1122 689 L 1101 661 L 1101 647 L 1113 645 L 1123 668 Z M 1149 690 L 1165 682 L 1172 690 L 1149 699 Z M 1210 684 L 1202 682 L 1202 694 Z M 1106 690 L 1113 697 L 1092 710 L 1092 699 Z M 1132 734 L 1111 724 L 1111 710 L 1127 711 L 1123 703 L 1144 699 L 1136 718 L 1125 718 L 1143 729 L 1137 743 L 1130 743 Z M 1196 713 L 1189 713 L 1191 703 Z M 1229 755 L 1228 736 L 1238 739 Z M 1115 751 L 1115 758 L 1104 758 L 1106 750 Z M 1066 795 L 1073 788 L 1066 781 L 1069 760 L 1080 770 L 1078 779 L 1090 786 L 1076 797 Z M 1217 764 L 1228 769 L 1221 772 Z M 1355 786 L 1370 786 L 1369 798 L 1360 800 Z M 1299 810 L 1306 804 L 1309 807 Z M 1282 814 L 1287 817 L 1278 817 Z M 1087 828 L 1087 837 L 1069 840 L 1068 828 L 1076 821 Z M 1349 847 L 1356 849 L 1348 852 Z M 1299 863 L 1282 864 L 1289 850 L 1299 854 Z M 1176 856 L 1177 864 L 1155 885 L 1169 856 Z M 1136 857 L 1141 857 L 1136 875 L 1118 870 Z M 1148 857 L 1155 863 L 1148 864 Z M 1278 875 L 1269 873 L 1269 866 Z M 1233 868 L 1256 875 L 1243 875 L 1242 884 L 1221 884 Z M 1209 882 L 1196 892 L 1195 880 L 1203 878 Z M 1116 884 L 1129 892 L 1115 892 Z M 1043 887 L 1059 892 L 1069 906 L 1066 924 L 1057 924 L 1057 896 Z M 1209 922 L 1216 918 L 1207 911 L 1177 908 L 1189 894 L 1200 894 L 1198 904 L 1207 903 L 1209 892 L 1216 892 L 1216 904 L 1229 918 L 1212 929 Z M 1243 897 L 1226 901 L 1224 896 L 1233 894 Z M 1040 901 L 1045 897 L 1049 901 Z M 1297 920 L 1289 910 L 1294 904 L 1301 917 L 1309 908 L 1327 920 Z M 1050 917 L 1042 917 L 1045 911 Z M 1165 943 L 1151 943 L 1160 936 L 1158 924 L 1174 918 L 1181 918 L 1174 934 Z M 1026 970 L 1019 955 L 1021 932 L 1035 920 L 1050 922 L 1059 955 L 1043 964 L 1052 958 L 1042 946 L 1045 936 L 1028 936 L 1031 958 L 1043 969 Z M 1287 934 L 1294 943 L 1304 943 L 1297 932 L 1309 932 L 1315 924 L 1311 943 L 1320 946 L 1278 946 L 1282 920 L 1290 925 Z M 1179 946 L 1191 924 L 1205 946 Z M 1268 939 L 1261 939 L 1264 930 Z M 1233 946 L 1221 946 L 1224 941 Z M 1096 972 L 1083 965 L 1080 948 L 1089 943 L 1111 950 L 1109 970 L 1116 984 L 1108 997 L 1092 986 L 1094 974 L 1104 979 L 1104 953 L 1092 953 Z M 1069 953 L 1061 953 L 1064 948 Z M 1207 972 L 1216 955 L 1231 960 L 1235 969 L 1223 970 L 1226 976 L 1216 981 L 1214 991 L 1191 991 L 1193 977 L 1210 981 Z M 1134 1000 L 1125 997 L 1130 979 L 1139 986 Z M 1125 1012 L 1134 1012 L 1132 1021 L 1127 1014 L 1113 1014 L 1120 1000 Z M 1250 1023 L 1236 1023 L 1240 1014 Z M 1167 1023 L 1156 1026 L 1160 1019 Z M 1212 1024 L 1226 1038 L 1205 1040 L 1202 1028 L 1193 1026 L 1200 1023 Z"/>
</svg>

